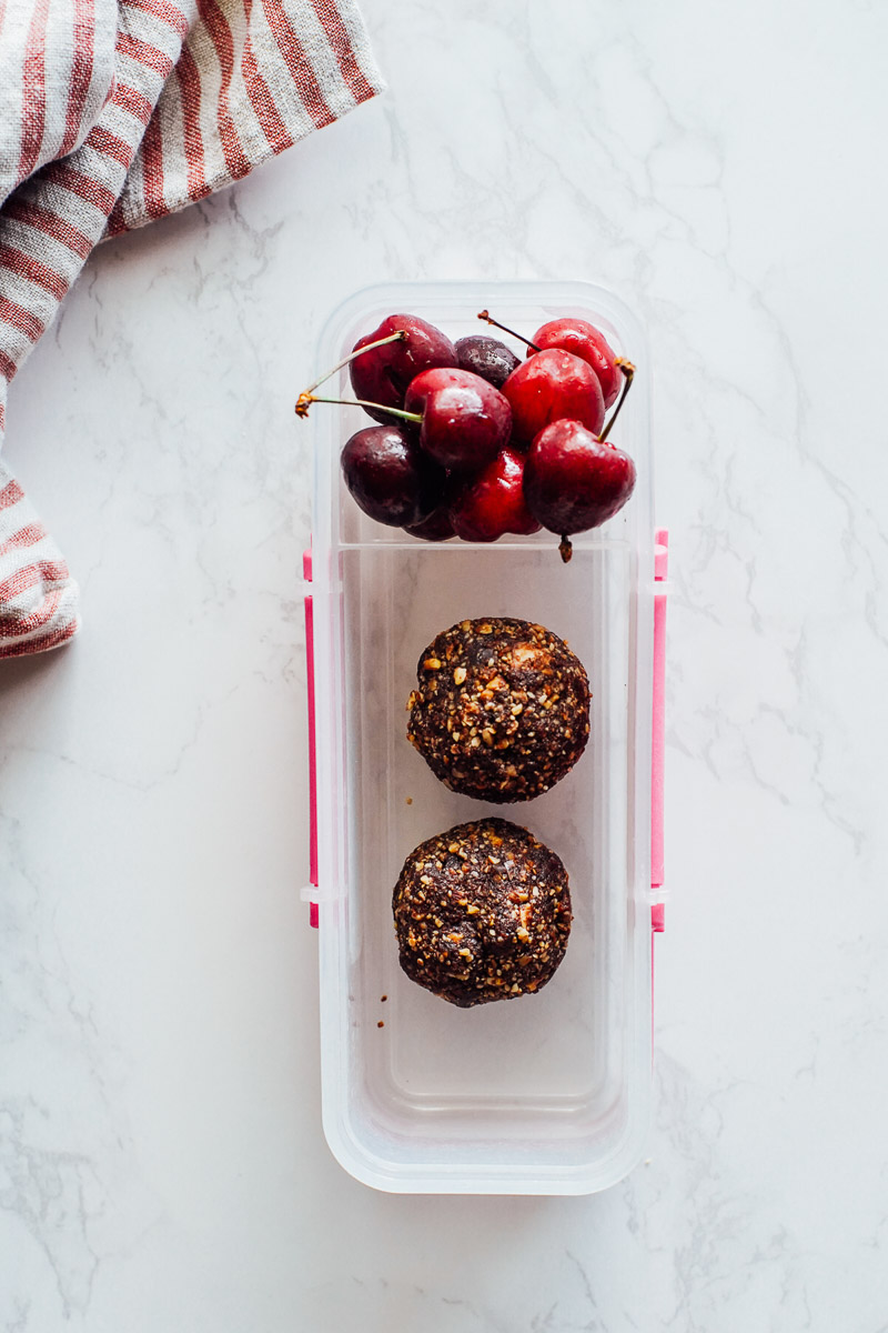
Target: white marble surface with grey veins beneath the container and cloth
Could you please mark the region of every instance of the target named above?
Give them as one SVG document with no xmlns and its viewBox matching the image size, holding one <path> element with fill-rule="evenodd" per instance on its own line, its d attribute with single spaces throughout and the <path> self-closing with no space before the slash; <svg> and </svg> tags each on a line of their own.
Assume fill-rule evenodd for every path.
<svg viewBox="0 0 888 1333">
<path fill-rule="evenodd" d="M 888 11 L 365 0 L 389 95 L 93 257 L 8 451 L 84 585 L 0 672 L 4 1333 L 888 1328 Z M 389 1197 L 318 1112 L 293 420 L 382 277 L 646 320 L 672 533 L 648 1161 Z"/>
</svg>

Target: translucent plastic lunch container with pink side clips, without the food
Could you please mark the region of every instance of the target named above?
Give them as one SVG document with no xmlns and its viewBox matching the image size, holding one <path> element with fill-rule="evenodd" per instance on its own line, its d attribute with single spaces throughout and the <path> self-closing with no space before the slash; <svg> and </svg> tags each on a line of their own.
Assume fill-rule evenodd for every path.
<svg viewBox="0 0 888 1333">
<path fill-rule="evenodd" d="M 638 481 L 616 517 L 574 537 L 567 565 L 549 532 L 423 543 L 373 523 L 345 489 L 339 452 L 370 424 L 365 413 L 312 409 L 305 896 L 320 925 L 324 1128 L 342 1166 L 378 1189 L 584 1194 L 638 1161 L 651 1104 L 666 535 L 652 527 L 644 333 L 616 297 L 586 283 L 389 284 L 333 312 L 317 373 L 397 311 L 451 339 L 495 333 L 477 320 L 482 307 L 529 336 L 549 319 L 583 316 L 635 363 L 615 443 Z M 335 396 L 330 385 L 322 392 Z M 351 396 L 347 369 L 338 392 Z M 406 740 L 421 652 L 441 629 L 482 616 L 546 625 L 588 672 L 586 753 L 533 801 L 454 794 Z M 527 826 L 560 856 L 574 925 L 539 994 L 458 1009 L 401 972 L 391 890 L 418 842 L 486 814 Z"/>
</svg>

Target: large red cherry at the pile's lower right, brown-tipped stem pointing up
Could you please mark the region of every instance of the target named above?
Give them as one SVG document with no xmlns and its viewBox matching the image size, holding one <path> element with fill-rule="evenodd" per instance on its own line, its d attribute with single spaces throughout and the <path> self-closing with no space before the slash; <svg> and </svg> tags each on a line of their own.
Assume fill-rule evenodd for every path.
<svg viewBox="0 0 888 1333">
<path fill-rule="evenodd" d="M 599 440 L 579 421 L 553 421 L 527 453 L 527 508 L 543 528 L 563 539 L 612 519 L 634 487 L 635 464 L 628 453 Z M 563 544 L 562 555 L 570 559 L 570 543 Z"/>
</svg>

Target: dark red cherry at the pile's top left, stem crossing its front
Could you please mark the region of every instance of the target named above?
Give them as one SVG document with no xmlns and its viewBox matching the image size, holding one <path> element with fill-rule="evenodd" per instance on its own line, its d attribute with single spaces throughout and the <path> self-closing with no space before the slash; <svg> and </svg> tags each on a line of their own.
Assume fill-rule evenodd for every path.
<svg viewBox="0 0 888 1333">
<path fill-rule="evenodd" d="M 386 316 L 373 333 L 358 339 L 354 349 L 377 343 L 398 329 L 407 335 L 403 341 L 386 343 L 351 361 L 349 373 L 355 397 L 370 399 L 386 408 L 402 408 L 407 385 L 421 371 L 457 364 L 457 349 L 450 339 L 418 315 Z M 383 425 L 391 420 L 381 411 L 367 408 L 367 412 Z"/>
</svg>

